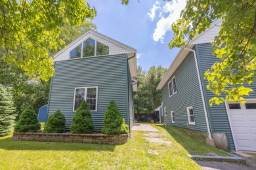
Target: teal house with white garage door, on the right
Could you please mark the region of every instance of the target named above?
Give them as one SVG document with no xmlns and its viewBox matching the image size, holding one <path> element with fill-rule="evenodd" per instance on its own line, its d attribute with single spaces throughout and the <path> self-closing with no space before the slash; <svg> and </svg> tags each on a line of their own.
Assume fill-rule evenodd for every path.
<svg viewBox="0 0 256 170">
<path fill-rule="evenodd" d="M 221 20 L 181 48 L 163 76 L 161 90 L 165 124 L 208 134 L 207 143 L 230 150 L 256 150 L 256 83 L 246 103 L 224 103 L 209 107 L 214 94 L 207 90 L 203 75 L 218 61 L 210 42 L 219 32 Z"/>
</svg>

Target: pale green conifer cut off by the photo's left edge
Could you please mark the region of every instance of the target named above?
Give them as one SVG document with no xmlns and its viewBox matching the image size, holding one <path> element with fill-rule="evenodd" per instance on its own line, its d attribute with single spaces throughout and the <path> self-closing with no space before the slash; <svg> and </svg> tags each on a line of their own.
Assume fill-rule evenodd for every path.
<svg viewBox="0 0 256 170">
<path fill-rule="evenodd" d="M 0 136 L 9 135 L 14 123 L 12 95 L 0 84 Z"/>
</svg>

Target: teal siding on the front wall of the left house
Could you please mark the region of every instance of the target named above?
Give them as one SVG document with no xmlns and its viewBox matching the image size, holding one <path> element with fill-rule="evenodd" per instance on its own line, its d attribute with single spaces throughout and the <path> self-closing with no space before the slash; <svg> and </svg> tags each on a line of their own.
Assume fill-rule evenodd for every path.
<svg viewBox="0 0 256 170">
<path fill-rule="evenodd" d="M 96 112 L 92 112 L 93 124 L 97 131 L 104 126 L 106 107 L 112 99 L 125 118 L 125 123 L 128 124 L 126 54 L 56 61 L 54 67 L 48 116 L 60 109 L 70 129 L 75 114 L 73 112 L 75 88 L 98 86 L 98 107 Z"/>
</svg>

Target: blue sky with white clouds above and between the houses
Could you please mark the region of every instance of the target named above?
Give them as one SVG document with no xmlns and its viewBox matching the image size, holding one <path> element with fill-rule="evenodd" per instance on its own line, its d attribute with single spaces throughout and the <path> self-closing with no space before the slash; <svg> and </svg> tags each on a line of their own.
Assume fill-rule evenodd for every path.
<svg viewBox="0 0 256 170">
<path fill-rule="evenodd" d="M 137 49 L 137 65 L 148 71 L 151 66 L 168 68 L 179 48 L 169 49 L 173 37 L 171 24 L 179 19 L 186 0 L 152 1 L 87 0 L 96 8 L 92 20 L 97 31 Z"/>
</svg>

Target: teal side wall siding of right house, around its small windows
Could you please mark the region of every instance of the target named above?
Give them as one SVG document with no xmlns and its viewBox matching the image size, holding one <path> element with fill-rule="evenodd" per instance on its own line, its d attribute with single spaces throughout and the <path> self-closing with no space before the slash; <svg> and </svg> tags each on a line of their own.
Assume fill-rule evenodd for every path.
<svg viewBox="0 0 256 170">
<path fill-rule="evenodd" d="M 169 97 L 168 82 L 176 77 L 177 93 Z M 190 129 L 207 131 L 205 115 L 203 111 L 203 102 L 200 93 L 198 75 L 196 71 L 196 62 L 194 54 L 190 52 L 176 69 L 175 73 L 169 78 L 161 90 L 163 108 L 166 107 L 167 117 L 165 124 L 188 128 L 187 107 L 194 108 L 196 125 L 189 125 Z M 164 111 L 164 110 L 163 110 Z M 175 123 L 171 123 L 171 111 L 175 112 Z"/>
</svg>

